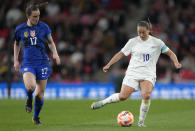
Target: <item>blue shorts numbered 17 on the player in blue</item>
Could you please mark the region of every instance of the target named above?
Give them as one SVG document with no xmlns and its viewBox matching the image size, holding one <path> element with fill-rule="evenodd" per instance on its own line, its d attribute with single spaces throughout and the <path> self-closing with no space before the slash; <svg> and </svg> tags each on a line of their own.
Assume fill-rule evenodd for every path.
<svg viewBox="0 0 195 131">
<path fill-rule="evenodd" d="M 49 64 L 43 64 L 39 66 L 27 66 L 23 65 L 20 67 L 22 74 L 26 72 L 31 72 L 35 75 L 37 80 L 48 79 L 51 75 L 51 66 Z"/>
</svg>

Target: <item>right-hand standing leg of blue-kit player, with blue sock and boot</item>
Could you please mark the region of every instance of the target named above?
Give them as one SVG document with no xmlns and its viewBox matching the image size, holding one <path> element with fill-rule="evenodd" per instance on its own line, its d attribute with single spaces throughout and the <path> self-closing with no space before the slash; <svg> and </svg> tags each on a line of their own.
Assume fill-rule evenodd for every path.
<svg viewBox="0 0 195 131">
<path fill-rule="evenodd" d="M 37 80 L 37 87 L 35 90 L 35 108 L 34 108 L 34 116 L 33 123 L 35 125 L 41 125 L 39 114 L 41 112 L 43 102 L 44 102 L 44 92 L 47 84 L 46 80 Z"/>
</svg>

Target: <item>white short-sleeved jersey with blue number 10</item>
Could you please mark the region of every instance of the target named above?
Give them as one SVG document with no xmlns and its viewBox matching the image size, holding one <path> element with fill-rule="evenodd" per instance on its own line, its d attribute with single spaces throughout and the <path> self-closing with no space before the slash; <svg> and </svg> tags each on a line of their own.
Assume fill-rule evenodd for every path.
<svg viewBox="0 0 195 131">
<path fill-rule="evenodd" d="M 126 75 L 156 78 L 156 63 L 161 53 L 168 51 L 165 43 L 149 35 L 148 40 L 143 41 L 139 36 L 129 39 L 121 51 L 131 60 Z"/>
</svg>

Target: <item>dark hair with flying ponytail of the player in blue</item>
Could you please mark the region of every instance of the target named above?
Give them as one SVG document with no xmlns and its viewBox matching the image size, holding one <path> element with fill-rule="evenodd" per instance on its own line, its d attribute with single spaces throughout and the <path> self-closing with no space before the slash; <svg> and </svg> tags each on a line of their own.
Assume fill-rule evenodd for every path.
<svg viewBox="0 0 195 131">
<path fill-rule="evenodd" d="M 48 2 L 43 2 L 43 3 L 39 3 L 39 4 L 30 2 L 26 7 L 25 12 L 28 16 L 30 16 L 32 14 L 32 11 L 37 11 L 37 10 L 39 10 L 39 8 L 44 7 L 47 4 L 48 4 Z"/>
</svg>

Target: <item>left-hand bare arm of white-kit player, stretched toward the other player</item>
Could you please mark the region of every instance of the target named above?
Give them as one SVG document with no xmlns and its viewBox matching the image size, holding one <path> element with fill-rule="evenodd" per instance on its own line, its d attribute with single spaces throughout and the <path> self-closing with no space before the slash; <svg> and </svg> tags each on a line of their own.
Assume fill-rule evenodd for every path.
<svg viewBox="0 0 195 131">
<path fill-rule="evenodd" d="M 124 56 L 122 51 L 116 53 L 106 66 L 103 67 L 103 72 L 107 72 L 111 65 L 119 61 Z"/>
</svg>

